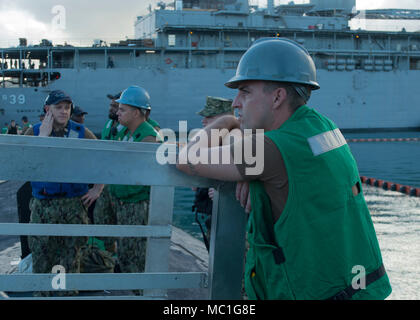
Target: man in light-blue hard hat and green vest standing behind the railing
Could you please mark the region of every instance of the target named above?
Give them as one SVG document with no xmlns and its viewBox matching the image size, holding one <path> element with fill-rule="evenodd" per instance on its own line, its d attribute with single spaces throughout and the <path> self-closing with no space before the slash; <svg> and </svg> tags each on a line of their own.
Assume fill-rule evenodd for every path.
<svg viewBox="0 0 420 320">
<path fill-rule="evenodd" d="M 138 86 L 127 88 L 116 100 L 118 121 L 125 128 L 116 140 L 126 142 L 161 142 L 159 133 L 147 122 L 151 111 L 150 97 Z M 150 186 L 110 185 L 112 220 L 119 225 L 147 225 Z M 146 239 L 118 240 L 118 261 L 124 273 L 144 272 Z"/>
</svg>

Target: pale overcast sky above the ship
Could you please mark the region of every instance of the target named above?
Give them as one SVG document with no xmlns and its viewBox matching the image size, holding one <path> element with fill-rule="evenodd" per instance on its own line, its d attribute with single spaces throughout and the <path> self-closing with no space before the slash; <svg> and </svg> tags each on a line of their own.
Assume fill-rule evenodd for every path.
<svg viewBox="0 0 420 320">
<path fill-rule="evenodd" d="M 15 46 L 18 38 L 27 38 L 29 43 L 34 44 L 46 38 L 54 43 L 67 40 L 84 45 L 91 44 L 93 39 L 111 42 L 126 37 L 133 38 L 136 17 L 146 14 L 149 4 L 155 7 L 157 2 L 158 0 L 0 0 L 0 47 Z M 275 4 L 288 2 L 289 0 L 277 0 Z M 295 3 L 307 2 L 309 0 L 295 0 Z M 266 6 L 266 0 L 251 1 L 251 4 L 257 3 Z M 61 15 L 63 8 L 65 14 Z M 420 0 L 356 0 L 356 8 L 420 9 Z M 59 17 L 64 19 L 60 21 Z M 57 27 L 62 26 L 64 20 L 65 28 Z M 414 30 L 420 30 L 420 21 L 408 22 L 407 30 L 410 30 L 411 25 Z"/>
</svg>

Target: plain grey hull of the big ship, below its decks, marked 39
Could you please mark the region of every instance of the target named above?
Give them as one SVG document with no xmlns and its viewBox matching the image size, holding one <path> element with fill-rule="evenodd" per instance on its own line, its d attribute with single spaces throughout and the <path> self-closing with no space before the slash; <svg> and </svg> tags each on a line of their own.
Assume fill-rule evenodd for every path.
<svg viewBox="0 0 420 320">
<path fill-rule="evenodd" d="M 178 130 L 201 127 L 200 110 L 207 95 L 234 98 L 236 90 L 224 83 L 233 69 L 60 69 L 60 80 L 46 88 L 0 88 L 0 121 L 20 122 L 26 115 L 32 123 L 49 90 L 68 92 L 76 105 L 89 114 L 86 125 L 99 133 L 107 120 L 108 93 L 136 84 L 149 91 L 152 118 L 162 128 Z M 404 129 L 420 127 L 420 103 L 415 88 L 418 71 L 329 72 L 319 70 L 321 90 L 313 92 L 309 105 L 330 117 L 344 130 Z"/>
</svg>

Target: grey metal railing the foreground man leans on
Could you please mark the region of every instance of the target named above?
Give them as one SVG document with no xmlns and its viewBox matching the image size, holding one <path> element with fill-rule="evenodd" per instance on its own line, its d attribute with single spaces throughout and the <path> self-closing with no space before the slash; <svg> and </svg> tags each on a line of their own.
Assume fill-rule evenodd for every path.
<svg viewBox="0 0 420 320">
<path fill-rule="evenodd" d="M 241 299 L 246 215 L 235 185 L 190 177 L 175 164 L 161 165 L 162 145 L 87 139 L 0 135 L 0 180 L 150 185 L 148 225 L 1 223 L 0 235 L 147 237 L 144 273 L 67 273 L 64 291 L 139 290 L 143 296 L 48 299 L 166 299 L 168 289 L 207 288 L 208 299 Z M 175 157 L 176 146 L 166 150 Z M 214 187 L 207 272 L 169 272 L 175 187 Z M 191 204 L 192 205 L 192 204 Z M 58 274 L 1 274 L 0 291 L 55 291 Z M 25 299 L 36 299 L 28 297 Z"/>
</svg>

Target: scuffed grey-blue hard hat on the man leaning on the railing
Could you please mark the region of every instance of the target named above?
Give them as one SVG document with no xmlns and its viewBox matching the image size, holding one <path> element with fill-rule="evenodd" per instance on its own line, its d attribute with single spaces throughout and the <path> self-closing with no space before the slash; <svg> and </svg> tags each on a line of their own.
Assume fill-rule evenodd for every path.
<svg viewBox="0 0 420 320">
<path fill-rule="evenodd" d="M 256 41 L 239 61 L 236 75 L 225 85 L 238 88 L 245 80 L 288 82 L 320 88 L 316 68 L 309 52 L 300 44 L 285 38 L 263 38 Z"/>
</svg>

